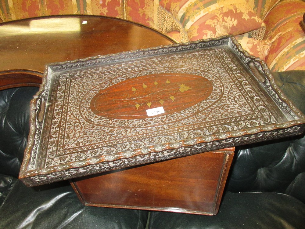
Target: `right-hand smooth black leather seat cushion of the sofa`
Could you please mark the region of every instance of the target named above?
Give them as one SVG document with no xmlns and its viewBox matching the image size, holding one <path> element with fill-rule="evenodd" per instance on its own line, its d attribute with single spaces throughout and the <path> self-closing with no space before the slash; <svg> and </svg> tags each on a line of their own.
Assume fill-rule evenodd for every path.
<svg viewBox="0 0 305 229">
<path fill-rule="evenodd" d="M 270 192 L 224 195 L 216 216 L 150 214 L 149 229 L 303 229 L 305 207 L 292 196 Z"/>
</svg>

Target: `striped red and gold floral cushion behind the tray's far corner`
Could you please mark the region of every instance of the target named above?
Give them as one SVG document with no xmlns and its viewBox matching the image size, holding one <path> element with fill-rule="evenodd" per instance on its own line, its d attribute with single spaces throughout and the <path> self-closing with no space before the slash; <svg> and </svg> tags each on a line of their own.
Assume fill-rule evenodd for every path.
<svg viewBox="0 0 305 229">
<path fill-rule="evenodd" d="M 191 41 L 238 35 L 264 27 L 246 0 L 185 0 L 177 5 L 175 0 L 170 2 L 164 5 L 165 9 L 176 15 Z"/>
</svg>

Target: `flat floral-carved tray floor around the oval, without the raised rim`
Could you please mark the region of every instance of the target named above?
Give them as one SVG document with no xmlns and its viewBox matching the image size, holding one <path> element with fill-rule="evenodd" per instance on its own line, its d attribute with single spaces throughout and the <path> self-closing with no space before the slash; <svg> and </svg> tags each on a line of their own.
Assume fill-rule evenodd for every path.
<svg viewBox="0 0 305 229">
<path fill-rule="evenodd" d="M 244 77 L 245 73 L 235 67 L 234 59 L 228 56 L 227 52 L 228 50 L 225 49 L 215 49 L 199 53 L 184 53 L 171 58 L 141 60 L 141 63 L 133 62 L 131 66 L 124 64 L 124 71 L 120 64 L 111 66 L 111 71 L 108 69 L 105 71 L 103 67 L 100 67 L 91 71 L 72 72 L 72 79 L 70 79 L 70 73 L 66 73 L 66 78 L 63 77 L 60 84 L 62 88 L 70 86 L 71 94 L 66 97 L 73 100 L 69 101 L 60 97 L 56 102 L 58 117 L 53 118 L 52 138 L 49 139 L 48 150 L 57 153 L 50 156 L 46 166 L 96 156 L 103 157 L 105 161 L 112 161 L 121 156 L 136 154 L 135 149 L 143 151 L 145 148 L 149 149 L 149 147 L 170 142 L 203 139 L 216 133 L 274 122 L 273 115 L 276 115 L 276 111 L 273 114 L 269 113 L 259 93 L 249 85 Z M 213 61 L 204 58 L 206 55 L 213 56 L 210 58 Z M 222 59 L 218 60 L 219 56 Z M 193 68 L 189 67 L 191 64 Z M 147 65 L 151 67 L 149 70 Z M 109 119 L 95 115 L 88 109 L 92 96 L 105 86 L 114 85 L 129 78 L 149 75 L 152 72 L 177 73 L 177 71 L 197 75 L 204 73 L 204 76 L 213 82 L 214 92 L 206 100 L 184 111 L 150 119 Z M 224 78 L 220 79 L 221 75 Z M 104 78 L 104 76 L 107 77 Z M 110 82 L 106 83 L 103 80 Z M 244 87 L 240 87 L 238 83 Z M 92 85 L 96 85 L 94 90 L 91 90 Z M 247 93 L 244 93 L 242 88 L 248 88 Z M 246 100 L 255 99 L 257 104 L 246 103 L 243 97 L 245 95 L 253 96 L 253 98 L 247 97 Z M 61 101 L 64 105 L 61 105 Z M 60 110 L 60 107 L 65 107 L 67 110 Z M 179 122 L 181 119 L 183 122 Z M 248 121 L 245 122 L 245 119 Z M 62 122 L 60 123 L 59 120 Z M 143 129 L 143 126 L 146 128 Z M 147 127 L 151 129 L 148 130 Z M 59 136 L 59 133 L 63 133 L 62 136 Z M 79 153 L 75 154 L 75 151 Z"/>
</svg>

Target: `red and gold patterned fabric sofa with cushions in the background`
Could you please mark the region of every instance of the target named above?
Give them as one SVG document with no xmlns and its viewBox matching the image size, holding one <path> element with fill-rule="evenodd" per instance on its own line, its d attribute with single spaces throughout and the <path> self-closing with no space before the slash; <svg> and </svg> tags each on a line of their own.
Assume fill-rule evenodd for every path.
<svg viewBox="0 0 305 229">
<path fill-rule="evenodd" d="M 272 71 L 305 70 L 305 34 L 299 25 L 304 12 L 304 0 L 0 1 L 0 22 L 92 14 L 153 27 L 177 42 L 234 35 L 243 49 L 265 60 Z"/>
</svg>

